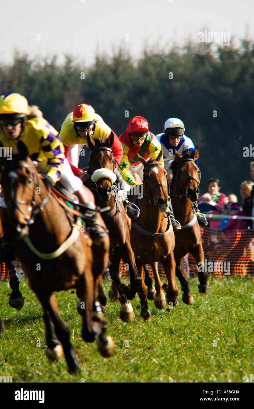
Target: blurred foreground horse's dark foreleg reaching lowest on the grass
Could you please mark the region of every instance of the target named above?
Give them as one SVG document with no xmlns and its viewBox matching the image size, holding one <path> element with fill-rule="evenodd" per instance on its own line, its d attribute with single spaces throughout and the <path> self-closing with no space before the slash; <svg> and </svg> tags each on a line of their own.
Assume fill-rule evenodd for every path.
<svg viewBox="0 0 254 409">
<path fill-rule="evenodd" d="M 43 294 L 41 289 L 40 291 L 36 291 L 36 294 L 38 299 L 40 300 L 40 303 L 43 306 L 45 313 L 49 314 L 49 317 L 51 318 L 54 324 L 54 330 L 57 339 L 59 339 L 59 341 L 63 345 L 63 352 L 69 368 L 69 372 L 72 373 L 79 371 L 81 368 L 79 366 L 79 361 L 78 358 L 76 357 L 74 348 L 70 343 L 69 328 L 65 321 L 63 321 L 61 314 L 58 310 L 56 297 L 54 296 L 53 293 Z"/>
</svg>

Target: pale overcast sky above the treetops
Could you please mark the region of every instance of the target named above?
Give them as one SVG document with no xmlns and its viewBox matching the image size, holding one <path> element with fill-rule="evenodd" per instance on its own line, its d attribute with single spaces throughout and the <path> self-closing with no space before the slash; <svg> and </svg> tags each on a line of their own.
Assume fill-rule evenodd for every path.
<svg viewBox="0 0 254 409">
<path fill-rule="evenodd" d="M 232 39 L 249 27 L 254 39 L 253 16 L 253 0 L 11 0 L 1 4 L 0 61 L 11 62 L 17 49 L 31 58 L 73 54 L 89 64 L 96 51 L 119 45 L 138 57 L 145 42 L 182 45 L 202 29 Z"/>
</svg>

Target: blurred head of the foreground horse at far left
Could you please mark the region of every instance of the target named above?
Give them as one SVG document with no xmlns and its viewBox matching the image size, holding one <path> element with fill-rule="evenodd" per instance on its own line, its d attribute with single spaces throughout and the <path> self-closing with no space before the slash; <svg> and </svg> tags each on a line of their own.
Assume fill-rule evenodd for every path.
<svg viewBox="0 0 254 409">
<path fill-rule="evenodd" d="M 22 141 L 18 141 L 17 153 L 11 160 L 2 158 L 2 189 L 9 214 L 8 235 L 21 238 L 28 234 L 29 226 L 34 222 L 35 209 L 41 204 L 40 187 L 46 189 L 39 181 L 40 176 L 36 166 L 28 155 L 28 150 Z M 37 203 L 39 198 L 40 204 Z M 40 208 L 40 207 L 39 207 Z"/>
</svg>

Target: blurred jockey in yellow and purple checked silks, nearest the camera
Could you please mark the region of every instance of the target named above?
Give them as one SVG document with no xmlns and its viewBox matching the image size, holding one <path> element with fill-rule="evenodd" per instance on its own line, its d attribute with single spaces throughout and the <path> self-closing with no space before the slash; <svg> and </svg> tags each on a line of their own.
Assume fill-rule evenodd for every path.
<svg viewBox="0 0 254 409">
<path fill-rule="evenodd" d="M 99 231 L 95 225 L 96 207 L 88 201 L 82 181 L 74 176 L 65 159 L 58 132 L 42 117 L 38 107 L 28 106 L 25 97 L 16 93 L 4 94 L 0 97 L 0 142 L 2 146 L 12 148 L 15 154 L 18 140 L 26 145 L 30 159 L 39 162 L 38 171 L 45 174 L 44 183 L 47 188 L 53 187 L 60 180 L 63 187 L 75 194 L 80 204 L 85 205 L 82 206 L 81 213 L 91 227 L 91 238 L 101 240 L 106 232 Z M 6 208 L 6 205 L 2 203 L 2 207 Z M 89 217 L 84 214 L 86 209 Z"/>
</svg>

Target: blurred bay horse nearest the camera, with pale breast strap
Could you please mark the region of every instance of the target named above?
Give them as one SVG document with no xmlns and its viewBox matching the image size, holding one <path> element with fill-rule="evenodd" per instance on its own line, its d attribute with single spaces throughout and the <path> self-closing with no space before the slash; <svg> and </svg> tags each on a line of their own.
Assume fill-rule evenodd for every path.
<svg viewBox="0 0 254 409">
<path fill-rule="evenodd" d="M 13 155 L 11 161 L 2 158 L 2 162 L 1 183 L 9 215 L 9 234 L 31 289 L 44 310 L 47 356 L 59 358 L 61 343 L 69 372 L 79 371 L 68 326 L 61 318 L 53 292 L 76 288 L 85 305 L 83 339 L 92 341 L 94 335 L 99 336 L 101 354 L 112 355 L 114 346 L 111 337 L 106 337 L 102 308 L 94 302 L 94 281 L 101 271 L 97 272 L 97 276 L 93 275 L 92 240 L 84 234 L 81 219 L 65 213 L 56 196 L 46 188 L 25 144 L 19 141 L 18 155 Z M 87 193 L 93 200 L 92 194 Z M 98 252 L 96 258 L 102 258 L 101 264 L 105 268 L 109 239 L 103 243 L 108 247 L 105 245 L 102 256 Z"/>
</svg>

